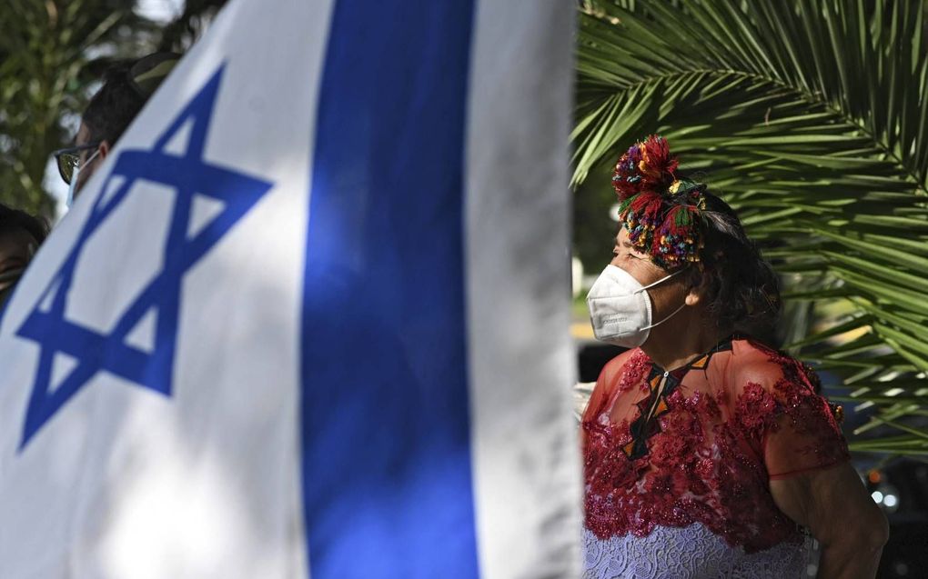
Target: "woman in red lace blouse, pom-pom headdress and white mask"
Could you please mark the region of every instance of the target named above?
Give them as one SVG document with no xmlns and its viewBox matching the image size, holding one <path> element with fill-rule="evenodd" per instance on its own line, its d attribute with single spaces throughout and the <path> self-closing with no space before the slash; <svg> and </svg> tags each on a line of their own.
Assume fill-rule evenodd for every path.
<svg viewBox="0 0 928 579">
<path fill-rule="evenodd" d="M 612 179 L 621 231 L 590 289 L 599 375 L 581 436 L 585 577 L 873 577 L 887 524 L 848 461 L 840 412 L 754 335 L 777 278 L 734 211 L 677 175 L 667 143 Z"/>
</svg>

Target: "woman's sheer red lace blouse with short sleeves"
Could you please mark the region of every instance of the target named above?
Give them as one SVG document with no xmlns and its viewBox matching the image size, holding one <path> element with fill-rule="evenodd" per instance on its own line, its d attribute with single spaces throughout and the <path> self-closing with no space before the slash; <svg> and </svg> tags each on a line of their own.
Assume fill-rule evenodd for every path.
<svg viewBox="0 0 928 579">
<path fill-rule="evenodd" d="M 586 527 L 607 539 L 701 522 L 748 553 L 801 541 L 768 481 L 849 459 L 817 381 L 741 336 L 670 372 L 638 348 L 612 359 L 582 423 Z"/>
</svg>

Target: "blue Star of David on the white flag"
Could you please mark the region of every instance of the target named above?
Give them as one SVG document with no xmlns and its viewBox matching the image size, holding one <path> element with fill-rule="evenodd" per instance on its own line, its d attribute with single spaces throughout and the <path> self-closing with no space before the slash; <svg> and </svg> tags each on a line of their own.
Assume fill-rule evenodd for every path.
<svg viewBox="0 0 928 579">
<path fill-rule="evenodd" d="M 271 183 L 214 165 L 203 158 L 222 74 L 223 67 L 220 67 L 150 150 L 129 149 L 118 154 L 77 241 L 17 330 L 19 336 L 34 341 L 40 347 L 19 443 L 20 452 L 32 436 L 99 371 L 110 372 L 143 388 L 171 396 L 184 275 L 271 188 Z M 178 154 L 175 143 L 185 135 L 186 153 Z M 120 181 L 113 182 L 114 179 Z M 134 296 L 110 332 L 100 334 L 66 319 L 69 290 L 87 240 L 120 207 L 136 180 L 161 183 L 175 192 L 174 208 L 161 254 L 163 267 Z M 214 202 L 218 201 L 223 208 L 213 220 L 191 235 L 188 232 L 197 195 L 206 195 Z M 131 243 L 131 240 L 126 242 Z M 99 291 L 105 292 L 106 288 L 106 283 L 100 283 Z M 157 314 L 152 347 L 143 349 L 127 343 L 126 336 L 152 311 Z M 67 354 L 76 363 L 56 385 L 52 377 L 58 353 Z"/>
</svg>

